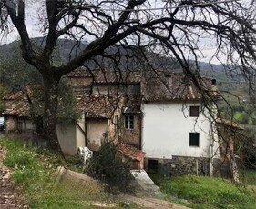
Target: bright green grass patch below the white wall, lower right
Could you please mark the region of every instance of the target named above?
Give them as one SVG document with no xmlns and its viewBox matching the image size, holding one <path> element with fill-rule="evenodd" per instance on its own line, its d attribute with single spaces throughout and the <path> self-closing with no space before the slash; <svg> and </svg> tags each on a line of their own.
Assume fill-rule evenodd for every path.
<svg viewBox="0 0 256 209">
<path fill-rule="evenodd" d="M 191 208 L 256 208 L 256 194 L 228 180 L 184 175 L 162 182 L 161 189 L 171 201 Z"/>
</svg>

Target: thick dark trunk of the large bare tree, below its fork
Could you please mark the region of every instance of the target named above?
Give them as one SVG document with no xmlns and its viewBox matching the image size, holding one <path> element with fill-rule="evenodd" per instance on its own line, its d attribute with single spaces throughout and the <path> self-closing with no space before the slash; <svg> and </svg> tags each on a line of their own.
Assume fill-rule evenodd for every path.
<svg viewBox="0 0 256 209">
<path fill-rule="evenodd" d="M 45 85 L 43 128 L 40 135 L 46 141 L 46 146 L 56 153 L 62 154 L 56 134 L 57 97 L 59 79 L 55 75 L 43 75 Z"/>
</svg>

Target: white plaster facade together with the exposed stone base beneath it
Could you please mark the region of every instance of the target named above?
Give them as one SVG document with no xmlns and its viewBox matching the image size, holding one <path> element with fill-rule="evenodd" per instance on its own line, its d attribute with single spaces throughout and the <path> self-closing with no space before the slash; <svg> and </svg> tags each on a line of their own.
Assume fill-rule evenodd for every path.
<svg viewBox="0 0 256 209">
<path fill-rule="evenodd" d="M 172 174 L 210 174 L 214 151 L 218 150 L 216 134 L 207 113 L 189 116 L 189 106 L 200 102 L 164 102 L 143 105 L 142 150 L 146 158 L 169 162 Z M 201 106 L 200 106 L 201 110 Z M 156 118 L 159 118 L 156 120 Z M 199 134 L 199 145 L 189 145 L 189 133 Z M 204 172 L 202 172 L 202 166 Z"/>
</svg>

